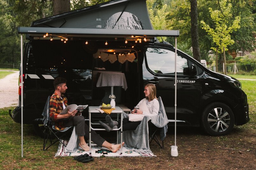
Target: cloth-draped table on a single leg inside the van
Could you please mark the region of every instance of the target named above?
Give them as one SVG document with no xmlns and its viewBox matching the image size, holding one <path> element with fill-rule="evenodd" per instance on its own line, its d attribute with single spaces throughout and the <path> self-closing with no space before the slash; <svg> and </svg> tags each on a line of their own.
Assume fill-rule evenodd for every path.
<svg viewBox="0 0 256 170">
<path fill-rule="evenodd" d="M 113 94 L 114 86 L 122 86 L 127 89 L 127 83 L 124 73 L 113 71 L 98 71 L 100 72 L 96 87 L 111 87 L 111 95 Z"/>
</svg>

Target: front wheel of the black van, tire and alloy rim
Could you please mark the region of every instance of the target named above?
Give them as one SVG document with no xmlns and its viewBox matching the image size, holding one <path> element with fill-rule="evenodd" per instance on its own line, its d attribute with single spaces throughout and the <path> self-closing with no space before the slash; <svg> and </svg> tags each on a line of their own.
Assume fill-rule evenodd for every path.
<svg viewBox="0 0 256 170">
<path fill-rule="evenodd" d="M 212 136 L 226 135 L 234 127 L 235 117 L 229 106 L 224 103 L 208 105 L 202 114 L 201 126 Z"/>
</svg>

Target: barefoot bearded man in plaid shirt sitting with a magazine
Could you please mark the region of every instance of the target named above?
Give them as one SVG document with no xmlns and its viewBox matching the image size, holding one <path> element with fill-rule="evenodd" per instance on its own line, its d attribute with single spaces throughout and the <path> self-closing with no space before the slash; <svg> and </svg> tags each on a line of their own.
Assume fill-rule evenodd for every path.
<svg viewBox="0 0 256 170">
<path fill-rule="evenodd" d="M 77 110 L 74 110 L 68 111 L 67 114 L 60 114 L 60 112 L 68 106 L 68 99 L 63 95 L 68 89 L 66 82 L 67 80 L 61 77 L 58 77 L 53 81 L 55 91 L 50 99 L 50 119 L 54 121 L 55 128 L 57 130 L 63 130 L 65 127 L 75 126 L 75 130 L 79 138 L 79 146 L 84 151 L 89 151 L 89 146 L 84 140 L 84 136 L 89 139 L 89 126 L 85 124 L 84 117 L 80 116 L 81 113 L 79 116 L 75 116 Z M 91 139 L 98 146 L 106 147 L 113 153 L 117 152 L 121 148 L 119 144 L 110 144 L 93 130 L 91 131 Z"/>
</svg>

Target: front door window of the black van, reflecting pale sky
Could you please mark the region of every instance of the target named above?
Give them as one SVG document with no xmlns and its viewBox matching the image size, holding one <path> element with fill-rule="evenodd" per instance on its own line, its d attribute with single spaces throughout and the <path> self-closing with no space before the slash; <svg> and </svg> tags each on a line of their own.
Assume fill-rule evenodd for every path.
<svg viewBox="0 0 256 170">
<path fill-rule="evenodd" d="M 175 52 L 163 48 L 146 48 L 146 63 L 155 74 L 174 74 Z M 177 75 L 189 75 L 188 60 L 177 53 Z"/>
</svg>

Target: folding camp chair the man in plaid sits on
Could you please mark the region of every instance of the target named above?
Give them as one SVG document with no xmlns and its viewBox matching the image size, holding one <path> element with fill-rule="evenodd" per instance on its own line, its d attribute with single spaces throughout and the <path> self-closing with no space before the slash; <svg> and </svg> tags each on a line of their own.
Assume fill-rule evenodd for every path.
<svg viewBox="0 0 256 170">
<path fill-rule="evenodd" d="M 54 123 L 50 120 L 49 104 L 50 104 L 50 96 L 48 96 L 47 98 L 46 105 L 42 113 L 42 115 L 44 116 L 43 122 L 45 126 L 44 145 L 43 145 L 44 151 L 46 151 L 50 146 L 55 144 L 57 141 L 60 141 L 63 144 L 63 146 L 66 147 L 66 145 L 62 142 L 61 139 L 63 139 L 64 136 L 66 136 L 67 130 L 70 128 L 70 127 L 66 127 L 64 130 L 61 130 L 61 131 L 58 131 L 55 129 Z M 48 139 L 50 140 L 50 145 L 46 147 Z"/>
</svg>

